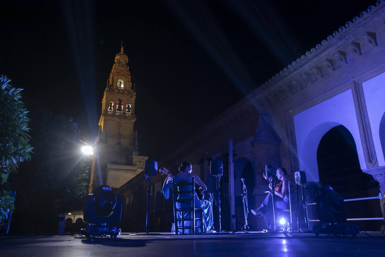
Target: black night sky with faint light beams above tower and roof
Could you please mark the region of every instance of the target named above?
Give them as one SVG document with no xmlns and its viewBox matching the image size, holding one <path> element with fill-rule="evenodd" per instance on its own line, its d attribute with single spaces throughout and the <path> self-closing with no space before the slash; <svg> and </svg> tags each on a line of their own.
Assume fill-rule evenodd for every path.
<svg viewBox="0 0 385 257">
<path fill-rule="evenodd" d="M 7 1 L 0 74 L 72 116 L 93 142 L 123 40 L 142 154 L 159 159 L 369 5 L 375 0 Z"/>
</svg>

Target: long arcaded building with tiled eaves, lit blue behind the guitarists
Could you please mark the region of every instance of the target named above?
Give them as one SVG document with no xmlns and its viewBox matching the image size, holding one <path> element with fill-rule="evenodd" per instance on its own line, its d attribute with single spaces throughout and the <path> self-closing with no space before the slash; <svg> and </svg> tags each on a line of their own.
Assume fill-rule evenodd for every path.
<svg viewBox="0 0 385 257">
<path fill-rule="evenodd" d="M 360 17 L 354 17 L 196 131 L 159 164 L 176 171 L 188 160 L 209 188 L 209 160 L 226 151 L 228 139 L 233 139 L 237 229 L 244 223 L 241 178 L 248 183 L 248 190 L 251 188 L 249 208 L 258 208 L 266 197 L 262 173 L 268 163 L 285 167 L 293 183 L 294 172 L 303 170 L 308 185 L 321 181 L 335 188 L 342 186 L 338 193 L 345 199 L 385 193 L 384 20 L 384 2 L 368 7 Z M 328 136 L 333 129 L 345 131 L 343 136 L 348 139 L 342 141 L 348 142 L 347 147 L 328 148 L 334 143 Z M 322 141 L 326 142 L 323 149 Z M 146 197 L 146 183 L 142 181 L 138 176 L 118 190 L 126 199 L 127 220 L 145 215 L 146 202 L 141 199 Z M 159 175 L 152 179 L 153 229 L 169 231 L 172 203 L 161 195 L 163 181 L 164 176 Z M 228 184 L 223 182 L 223 201 L 229 198 Z M 375 199 L 347 203 L 346 211 L 348 218 L 377 218 L 382 217 L 379 207 Z M 315 218 L 314 210 L 309 212 L 310 219 Z M 224 211 L 222 228 L 229 219 Z M 254 229 L 266 228 L 263 218 L 249 215 L 248 221 Z M 368 230 L 379 229 L 379 222 L 354 223 Z M 136 230 L 139 225 L 144 226 L 132 222 L 128 227 Z"/>
</svg>

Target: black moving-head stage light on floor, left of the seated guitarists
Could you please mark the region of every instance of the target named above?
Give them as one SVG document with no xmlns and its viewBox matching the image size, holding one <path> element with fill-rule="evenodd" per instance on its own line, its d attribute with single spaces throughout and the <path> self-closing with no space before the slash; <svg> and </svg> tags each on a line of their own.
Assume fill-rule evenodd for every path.
<svg viewBox="0 0 385 257">
<path fill-rule="evenodd" d="M 122 217 L 122 197 L 115 196 L 110 186 L 100 185 L 88 195 L 84 208 L 87 227 L 80 234 L 86 237 L 116 238 L 122 230 L 116 225 Z"/>
</svg>

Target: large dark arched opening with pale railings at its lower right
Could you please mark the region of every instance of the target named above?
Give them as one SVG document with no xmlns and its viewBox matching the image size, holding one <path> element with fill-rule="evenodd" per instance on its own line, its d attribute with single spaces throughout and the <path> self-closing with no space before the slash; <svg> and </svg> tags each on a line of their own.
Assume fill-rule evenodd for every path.
<svg viewBox="0 0 385 257">
<path fill-rule="evenodd" d="M 357 147 L 352 134 L 344 126 L 330 129 L 322 137 L 317 151 L 320 182 L 330 185 L 342 198 L 373 197 L 379 191 L 378 182 L 372 175 L 362 172 Z M 378 217 L 377 201 L 345 203 L 346 216 Z M 380 223 L 355 221 L 364 230 L 376 230 Z"/>
</svg>

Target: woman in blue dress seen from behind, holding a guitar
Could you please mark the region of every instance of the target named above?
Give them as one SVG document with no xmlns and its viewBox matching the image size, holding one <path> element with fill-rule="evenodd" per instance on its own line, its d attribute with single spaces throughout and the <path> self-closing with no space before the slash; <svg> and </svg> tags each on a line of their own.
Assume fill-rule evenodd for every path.
<svg viewBox="0 0 385 257">
<path fill-rule="evenodd" d="M 181 172 L 176 176 L 172 176 L 171 174 L 167 176 L 166 180 L 164 181 L 163 188 L 162 188 L 162 193 L 166 199 L 169 198 L 169 189 L 172 187 L 172 178 L 174 178 L 174 183 L 177 184 L 181 180 L 187 180 L 188 182 L 191 183 L 192 181 L 192 165 L 188 161 L 184 161 L 182 165 L 178 168 L 178 170 Z M 202 180 L 199 178 L 199 176 L 194 175 L 194 180 L 195 183 L 197 183 L 200 188 L 199 190 L 205 191 L 207 190 L 206 185 L 202 182 Z M 182 195 L 179 195 L 181 197 Z M 178 197 L 178 199 L 179 199 Z M 186 198 L 190 198 L 191 195 L 187 195 Z M 207 200 L 200 200 L 198 196 L 195 194 L 195 207 L 196 208 L 201 208 L 203 210 L 203 233 L 206 233 L 207 231 L 210 230 L 210 228 L 213 226 L 213 208 L 211 207 L 211 203 Z M 183 202 L 186 203 L 186 202 Z M 190 203 L 188 203 L 190 204 Z M 182 208 L 181 203 L 177 203 L 177 208 Z M 177 215 L 180 218 L 181 213 L 178 212 Z"/>
</svg>

